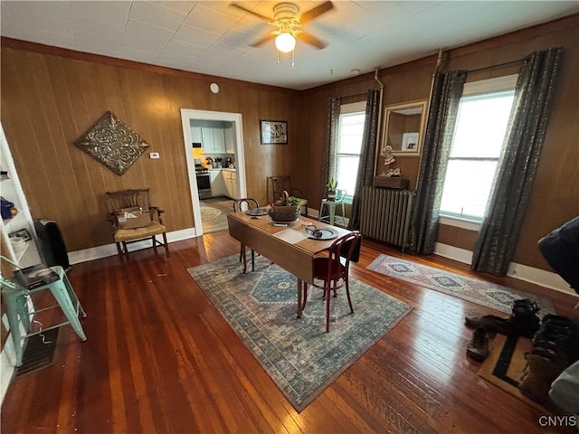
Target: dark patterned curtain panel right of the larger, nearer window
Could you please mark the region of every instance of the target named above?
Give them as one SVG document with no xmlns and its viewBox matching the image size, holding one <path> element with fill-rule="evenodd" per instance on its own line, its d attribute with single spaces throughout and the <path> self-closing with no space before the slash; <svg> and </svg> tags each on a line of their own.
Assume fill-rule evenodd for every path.
<svg viewBox="0 0 579 434">
<path fill-rule="evenodd" d="M 472 269 L 507 274 L 545 140 L 562 49 L 534 52 L 519 71 L 508 133 L 472 257 Z"/>
</svg>

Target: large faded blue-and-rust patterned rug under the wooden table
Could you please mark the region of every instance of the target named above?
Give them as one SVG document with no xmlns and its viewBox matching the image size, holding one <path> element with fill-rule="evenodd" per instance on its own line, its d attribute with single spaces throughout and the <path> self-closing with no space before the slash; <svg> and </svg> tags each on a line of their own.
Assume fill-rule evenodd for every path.
<svg viewBox="0 0 579 434">
<path fill-rule="evenodd" d="M 297 281 L 261 256 L 242 274 L 239 255 L 188 269 L 293 407 L 301 411 L 411 309 L 350 278 L 354 314 L 345 290 L 331 300 L 330 330 L 321 290 L 310 288 L 296 318 Z"/>
</svg>

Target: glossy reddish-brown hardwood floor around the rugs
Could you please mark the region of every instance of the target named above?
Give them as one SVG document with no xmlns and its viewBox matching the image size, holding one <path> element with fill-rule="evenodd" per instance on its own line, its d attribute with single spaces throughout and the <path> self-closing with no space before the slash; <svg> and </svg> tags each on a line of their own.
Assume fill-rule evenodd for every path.
<svg viewBox="0 0 579 434">
<path fill-rule="evenodd" d="M 483 381 L 466 357 L 464 316 L 503 314 L 365 269 L 379 253 L 404 257 L 371 241 L 353 276 L 413 311 L 298 413 L 187 273 L 237 254 L 239 243 L 221 231 L 170 249 L 168 260 L 143 250 L 126 265 L 110 257 L 73 267 L 88 340 L 62 327 L 53 365 L 10 386 L 3 433 L 571 432 L 542 429 L 544 411 Z M 472 275 L 449 259 L 412 259 Z M 578 315 L 574 297 L 489 279 Z"/>
</svg>

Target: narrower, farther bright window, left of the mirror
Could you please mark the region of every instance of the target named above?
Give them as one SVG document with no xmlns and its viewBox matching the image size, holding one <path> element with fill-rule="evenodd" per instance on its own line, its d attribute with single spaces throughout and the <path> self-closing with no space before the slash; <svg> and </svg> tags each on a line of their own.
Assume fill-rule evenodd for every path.
<svg viewBox="0 0 579 434">
<path fill-rule="evenodd" d="M 356 190 L 356 176 L 364 135 L 365 101 L 340 107 L 337 133 L 336 179 L 337 188 L 346 190 L 350 201 Z"/>
</svg>

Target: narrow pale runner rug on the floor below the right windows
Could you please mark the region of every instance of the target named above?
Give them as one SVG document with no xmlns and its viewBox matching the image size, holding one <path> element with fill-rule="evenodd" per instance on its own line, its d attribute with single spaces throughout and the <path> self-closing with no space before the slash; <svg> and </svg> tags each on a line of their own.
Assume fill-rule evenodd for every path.
<svg viewBox="0 0 579 434">
<path fill-rule="evenodd" d="M 400 278 L 422 288 L 433 289 L 506 314 L 511 313 L 513 301 L 521 298 L 535 300 L 541 308 L 541 315 L 555 313 L 553 302 L 547 297 L 538 297 L 478 278 L 435 269 L 411 260 L 381 254 L 367 268 L 384 276 Z"/>
</svg>

